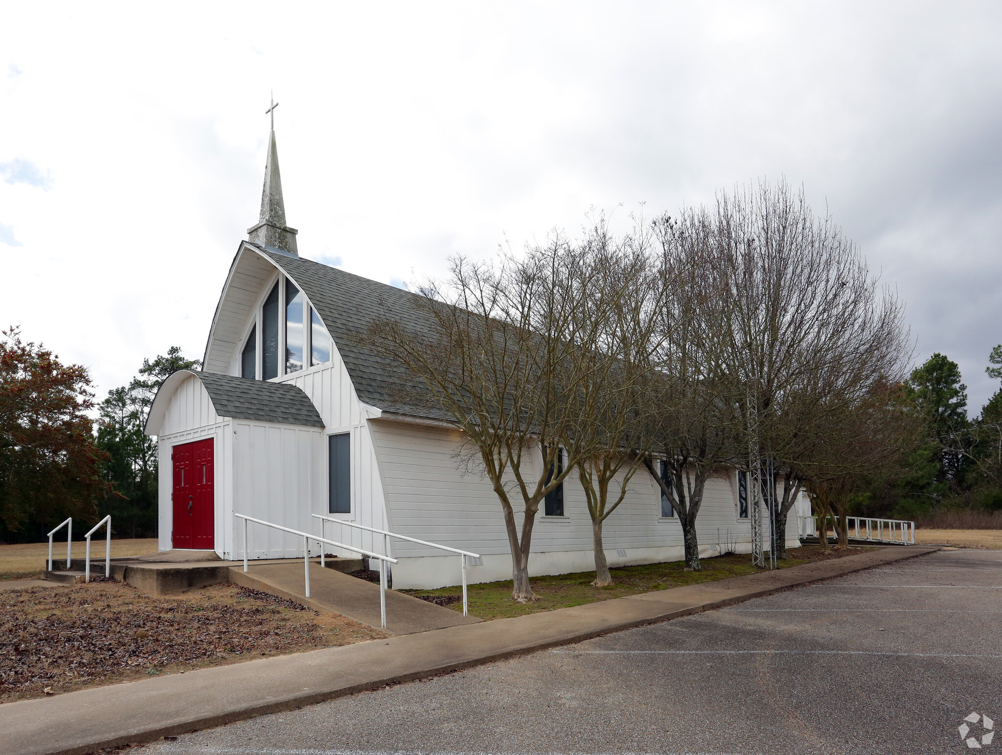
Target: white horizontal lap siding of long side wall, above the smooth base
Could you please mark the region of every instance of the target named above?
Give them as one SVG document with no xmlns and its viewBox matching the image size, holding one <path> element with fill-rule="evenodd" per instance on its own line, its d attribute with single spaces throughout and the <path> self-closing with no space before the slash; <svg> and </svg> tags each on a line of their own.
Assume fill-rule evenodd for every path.
<svg viewBox="0 0 1002 755">
<path fill-rule="evenodd" d="M 458 467 L 458 431 L 381 421 L 372 426 L 393 531 L 482 554 L 510 552 L 501 503 L 490 483 L 476 473 L 464 475 Z M 526 474 L 531 481 L 533 472 Z M 612 489 L 617 495 L 618 485 Z M 512 504 L 520 524 L 522 506 L 517 492 Z M 537 515 L 534 552 L 591 550 L 591 518 L 576 472 L 564 481 L 564 512 L 563 517 Z M 659 488 L 641 468 L 630 479 L 623 502 L 604 522 L 605 548 L 682 545 L 677 517 L 659 514 Z M 707 480 L 696 531 L 700 544 L 750 541 L 750 524 L 737 518 L 734 488 L 726 477 Z M 395 544 L 396 555 L 436 552 L 442 551 Z"/>
</svg>

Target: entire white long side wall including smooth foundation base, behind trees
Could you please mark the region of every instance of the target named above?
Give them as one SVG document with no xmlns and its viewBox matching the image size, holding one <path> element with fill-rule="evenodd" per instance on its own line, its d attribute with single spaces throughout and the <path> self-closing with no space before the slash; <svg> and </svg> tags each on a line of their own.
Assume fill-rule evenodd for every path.
<svg viewBox="0 0 1002 755">
<path fill-rule="evenodd" d="M 501 504 L 490 482 L 476 473 L 464 474 L 456 451 L 458 430 L 386 420 L 370 423 L 382 469 L 391 529 L 419 539 L 462 548 L 483 556 L 470 568 L 471 582 L 511 577 L 511 551 Z M 541 464 L 541 457 L 536 460 Z M 700 554 L 714 555 L 721 546 L 748 552 L 752 528 L 737 518 L 733 475 L 711 477 L 696 519 Z M 610 565 L 650 563 L 684 557 L 677 517 L 660 516 L 660 491 L 645 469 L 630 480 L 626 498 L 605 520 L 603 544 Z M 520 498 L 513 499 L 521 523 Z M 566 574 L 594 569 L 591 518 L 576 473 L 564 481 L 564 516 L 536 517 L 530 574 Z M 796 516 L 792 513 L 792 516 Z M 794 518 L 796 527 L 796 518 Z M 795 539 L 788 545 L 795 547 Z M 626 551 L 625 556 L 616 551 Z M 394 553 L 394 586 L 444 587 L 460 581 L 459 558 L 423 545 L 398 541 Z"/>
</svg>

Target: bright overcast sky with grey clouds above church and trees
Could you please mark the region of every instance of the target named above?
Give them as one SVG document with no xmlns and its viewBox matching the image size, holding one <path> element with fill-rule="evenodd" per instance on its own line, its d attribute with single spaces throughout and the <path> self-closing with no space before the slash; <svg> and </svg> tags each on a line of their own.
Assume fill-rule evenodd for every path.
<svg viewBox="0 0 1002 755">
<path fill-rule="evenodd" d="M 5 3 L 0 323 L 99 396 L 170 345 L 200 357 L 274 87 L 304 257 L 414 282 L 589 208 L 786 176 L 977 413 L 1002 342 L 1000 40 L 1002 4 L 957 0 Z"/>
</svg>

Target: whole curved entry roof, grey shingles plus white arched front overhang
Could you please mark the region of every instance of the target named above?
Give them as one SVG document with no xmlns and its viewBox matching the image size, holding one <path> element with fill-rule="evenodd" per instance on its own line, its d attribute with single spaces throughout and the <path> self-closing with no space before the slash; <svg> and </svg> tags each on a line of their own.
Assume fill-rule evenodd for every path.
<svg viewBox="0 0 1002 755">
<path fill-rule="evenodd" d="M 215 413 L 232 419 L 253 419 L 285 425 L 324 427 L 324 420 L 310 397 L 292 383 L 248 380 L 199 370 L 178 370 L 160 385 L 149 408 L 144 432 L 158 434 L 177 386 L 189 377 L 201 381 Z"/>
</svg>

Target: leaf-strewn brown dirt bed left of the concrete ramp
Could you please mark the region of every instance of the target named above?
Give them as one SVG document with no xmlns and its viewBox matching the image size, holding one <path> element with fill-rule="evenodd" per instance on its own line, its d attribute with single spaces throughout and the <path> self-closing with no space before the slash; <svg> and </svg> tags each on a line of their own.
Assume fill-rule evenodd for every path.
<svg viewBox="0 0 1002 755">
<path fill-rule="evenodd" d="M 386 637 L 235 585 L 151 596 L 102 581 L 0 600 L 2 703 Z"/>
</svg>

